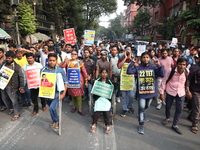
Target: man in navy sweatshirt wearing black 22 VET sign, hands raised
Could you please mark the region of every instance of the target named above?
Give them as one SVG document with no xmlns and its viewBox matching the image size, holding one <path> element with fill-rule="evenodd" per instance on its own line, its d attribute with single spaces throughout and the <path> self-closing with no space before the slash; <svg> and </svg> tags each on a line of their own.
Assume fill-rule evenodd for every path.
<svg viewBox="0 0 200 150">
<path fill-rule="evenodd" d="M 144 122 L 148 121 L 145 116 L 152 98 L 156 96 L 157 90 L 155 78 L 164 77 L 163 67 L 158 60 L 154 60 L 154 65 L 150 64 L 150 54 L 144 52 L 141 55 L 141 64 L 138 66 L 134 61 L 130 63 L 127 74 L 137 75 L 137 95 L 138 95 L 138 133 L 144 134 Z"/>
</svg>

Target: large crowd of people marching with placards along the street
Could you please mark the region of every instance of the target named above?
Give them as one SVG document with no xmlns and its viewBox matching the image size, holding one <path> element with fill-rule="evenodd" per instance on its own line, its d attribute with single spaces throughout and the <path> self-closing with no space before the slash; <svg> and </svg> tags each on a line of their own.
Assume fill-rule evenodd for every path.
<svg viewBox="0 0 200 150">
<path fill-rule="evenodd" d="M 33 104 L 31 116 L 38 113 L 40 87 L 29 88 L 27 78 L 27 71 L 35 70 L 38 76 L 42 76 L 40 86 L 48 82 L 46 73 L 62 76 L 64 89 L 59 91 L 59 87 L 56 86 L 53 99 L 40 98 L 42 110 L 46 112 L 49 109 L 51 128 L 59 128 L 56 108 L 59 100 L 66 97 L 72 105 L 71 113 L 77 111 L 82 116 L 86 115 L 82 101 L 90 101 L 94 81 L 98 80 L 114 85 L 116 102 L 122 105 L 121 117 L 134 113 L 133 102 L 137 99 L 138 133 L 144 134 L 144 123 L 149 121 L 146 110 L 152 100 L 156 100 L 156 109 L 160 110 L 165 105 L 163 125 L 170 123 L 170 109 L 175 101 L 175 115 L 171 128 L 178 134 L 182 134 L 178 127 L 181 111 L 187 106 L 188 119 L 192 121 L 191 131 L 197 134 L 200 119 L 200 50 L 196 47 L 186 47 L 185 51 L 180 52 L 178 47 L 168 49 L 165 45 L 149 43 L 146 51 L 137 56 L 130 44 L 123 45 L 119 41 L 86 46 L 83 40 L 82 45 L 70 45 L 59 41 L 58 36 L 56 42 L 43 40 L 32 47 L 9 43 L 7 51 L 0 48 L 0 80 L 4 77 L 1 72 L 3 67 L 13 70 L 14 73 L 5 88 L 0 90 L 0 111 L 8 109 L 9 115 L 14 114 L 11 120 L 15 121 L 20 117 L 21 102 L 23 108 Z M 133 80 L 129 81 L 133 88 L 122 90 L 122 68 L 125 65 L 128 66 L 125 74 L 133 77 Z M 80 69 L 80 87 L 68 87 L 69 68 Z M 100 98 L 99 95 L 94 95 L 94 101 Z M 106 133 L 110 133 L 110 110 L 94 112 L 90 131 L 95 132 L 101 112 Z"/>
</svg>

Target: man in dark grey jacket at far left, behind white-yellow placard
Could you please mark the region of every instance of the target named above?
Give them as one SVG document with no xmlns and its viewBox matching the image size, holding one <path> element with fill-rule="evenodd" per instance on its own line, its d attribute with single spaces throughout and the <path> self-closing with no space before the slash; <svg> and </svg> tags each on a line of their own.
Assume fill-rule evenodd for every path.
<svg viewBox="0 0 200 150">
<path fill-rule="evenodd" d="M 4 90 L 1 91 L 3 102 L 6 107 L 10 109 L 9 115 L 14 113 L 14 117 L 11 119 L 12 121 L 17 120 L 20 117 L 19 113 L 19 104 L 17 100 L 17 92 L 18 90 L 21 93 L 24 93 L 24 76 L 22 73 L 21 67 L 14 62 L 15 54 L 12 51 L 6 52 L 6 61 L 4 61 L 0 67 L 0 69 L 5 66 L 14 71 L 10 81 Z"/>
</svg>

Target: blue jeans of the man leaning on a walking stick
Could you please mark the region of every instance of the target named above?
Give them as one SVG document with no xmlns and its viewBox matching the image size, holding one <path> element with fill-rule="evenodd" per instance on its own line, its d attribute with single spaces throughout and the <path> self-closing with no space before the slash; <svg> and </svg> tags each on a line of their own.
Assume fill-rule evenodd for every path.
<svg viewBox="0 0 200 150">
<path fill-rule="evenodd" d="M 57 114 L 56 108 L 58 107 L 58 98 L 46 99 L 47 105 L 49 106 L 49 112 L 53 122 L 59 122 L 59 116 Z"/>
</svg>

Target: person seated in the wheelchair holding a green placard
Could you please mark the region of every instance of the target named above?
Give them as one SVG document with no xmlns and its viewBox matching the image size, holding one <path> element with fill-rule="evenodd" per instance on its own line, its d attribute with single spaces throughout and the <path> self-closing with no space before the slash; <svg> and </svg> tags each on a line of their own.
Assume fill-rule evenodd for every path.
<svg viewBox="0 0 200 150">
<path fill-rule="evenodd" d="M 90 79 L 90 77 L 89 77 L 89 79 Z M 104 82 L 104 83 L 113 85 L 113 83 L 108 79 L 108 70 L 105 69 L 105 68 L 102 68 L 100 70 L 100 78 L 97 79 L 97 80 L 100 81 L 100 82 Z M 91 84 L 93 84 L 94 80 L 93 81 L 89 80 L 89 82 Z M 116 83 L 117 83 L 117 78 L 114 78 L 115 86 L 116 86 Z M 94 97 L 94 101 L 96 101 L 96 100 L 98 100 L 100 98 L 100 96 L 98 96 L 98 95 L 93 95 L 93 97 Z M 109 101 L 111 101 L 111 99 L 109 99 Z M 108 134 L 111 131 L 111 129 L 110 129 L 110 111 L 95 111 L 94 112 L 93 123 L 92 123 L 92 127 L 90 128 L 90 132 L 92 132 L 92 133 L 95 132 L 97 121 L 98 121 L 99 116 L 100 116 L 101 113 L 103 113 L 103 118 L 104 118 L 104 121 L 105 121 L 105 126 L 106 126 L 106 131 L 105 132 Z"/>
</svg>

